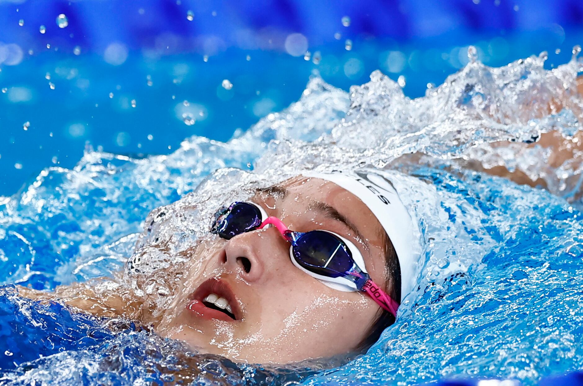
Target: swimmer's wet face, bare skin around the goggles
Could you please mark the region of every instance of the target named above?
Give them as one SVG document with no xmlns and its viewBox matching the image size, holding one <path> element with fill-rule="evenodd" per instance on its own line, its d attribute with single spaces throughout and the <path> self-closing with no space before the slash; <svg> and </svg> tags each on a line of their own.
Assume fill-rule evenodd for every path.
<svg viewBox="0 0 583 386">
<path fill-rule="evenodd" d="M 347 238 L 359 248 L 371 278 L 386 282 L 384 230 L 352 193 L 318 178 L 296 177 L 250 201 L 291 230 L 325 229 Z M 353 351 L 379 306 L 364 293 L 331 289 L 300 271 L 289 250 L 275 227 L 202 243 L 157 332 L 201 352 L 255 363 Z M 203 303 L 193 306 L 209 293 L 227 300 L 236 320 Z"/>
</svg>

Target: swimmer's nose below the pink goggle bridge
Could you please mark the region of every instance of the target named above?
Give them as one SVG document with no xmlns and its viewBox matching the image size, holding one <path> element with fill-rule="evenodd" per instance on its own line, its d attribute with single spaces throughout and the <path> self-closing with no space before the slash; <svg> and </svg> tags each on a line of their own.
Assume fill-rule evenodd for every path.
<svg viewBox="0 0 583 386">
<path fill-rule="evenodd" d="M 285 244 L 286 241 L 275 229 L 241 233 L 227 241 L 223 264 L 247 282 L 257 282 L 271 266 L 277 264 L 283 253 L 287 256 L 289 244 L 287 247 Z"/>
</svg>

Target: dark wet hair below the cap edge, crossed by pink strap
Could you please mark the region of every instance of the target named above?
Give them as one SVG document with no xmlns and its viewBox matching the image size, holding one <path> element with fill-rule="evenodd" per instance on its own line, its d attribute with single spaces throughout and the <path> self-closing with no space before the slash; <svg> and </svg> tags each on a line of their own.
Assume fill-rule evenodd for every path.
<svg viewBox="0 0 583 386">
<path fill-rule="evenodd" d="M 387 282 L 385 283 L 385 292 L 389 294 L 397 303 L 401 304 L 401 266 L 399 266 L 399 259 L 391 243 L 391 239 L 385 231 L 382 231 L 382 238 L 385 252 L 385 266 L 388 273 Z M 391 280 L 392 279 L 392 280 Z M 392 281 L 392 288 L 388 288 Z M 364 335 L 362 341 L 356 346 L 357 352 L 364 352 L 370 346 L 374 345 L 380 338 L 385 328 L 389 327 L 395 322 L 395 317 L 388 311 L 379 308 L 377 317 L 371 324 L 370 328 Z"/>
</svg>

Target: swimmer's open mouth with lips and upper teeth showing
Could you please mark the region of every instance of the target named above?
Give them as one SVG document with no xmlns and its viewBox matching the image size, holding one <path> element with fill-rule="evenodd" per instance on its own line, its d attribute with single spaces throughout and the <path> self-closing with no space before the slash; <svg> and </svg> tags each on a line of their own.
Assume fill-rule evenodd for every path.
<svg viewBox="0 0 583 386">
<path fill-rule="evenodd" d="M 231 287 L 220 279 L 203 282 L 191 296 L 188 310 L 205 319 L 241 320 L 237 298 Z"/>
</svg>

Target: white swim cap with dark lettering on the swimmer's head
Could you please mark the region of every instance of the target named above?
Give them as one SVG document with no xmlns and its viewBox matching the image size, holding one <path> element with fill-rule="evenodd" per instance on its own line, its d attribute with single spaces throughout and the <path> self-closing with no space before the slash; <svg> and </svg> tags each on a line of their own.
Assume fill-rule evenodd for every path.
<svg viewBox="0 0 583 386">
<path fill-rule="evenodd" d="M 366 168 L 329 173 L 303 173 L 305 177 L 330 181 L 354 194 L 373 212 L 395 247 L 401 268 L 401 301 L 415 285 L 419 261 L 419 240 L 415 239 L 413 221 L 385 171 Z"/>
</svg>

